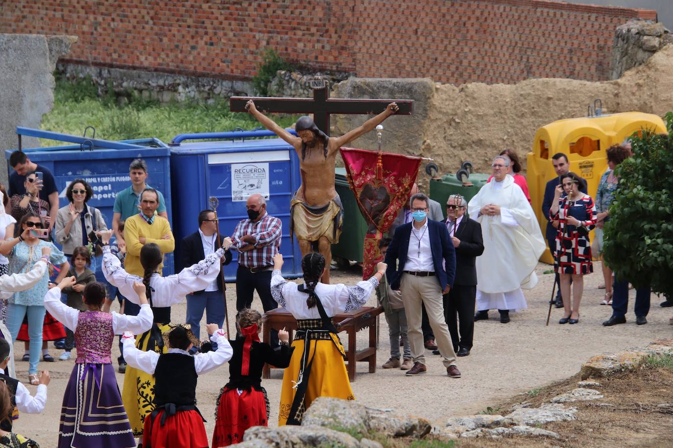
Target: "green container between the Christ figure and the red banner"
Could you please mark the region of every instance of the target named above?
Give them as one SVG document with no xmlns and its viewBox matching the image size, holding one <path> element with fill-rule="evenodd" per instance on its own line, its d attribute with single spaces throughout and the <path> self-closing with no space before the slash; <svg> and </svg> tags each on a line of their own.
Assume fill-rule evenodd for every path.
<svg viewBox="0 0 673 448">
<path fill-rule="evenodd" d="M 346 169 L 337 167 L 334 174 L 334 187 L 343 205 L 343 231 L 339 243 L 332 244 L 332 258 L 339 267 L 348 267 L 349 261 L 363 261 L 367 222 L 357 206 L 353 190 L 348 185 Z"/>
</svg>

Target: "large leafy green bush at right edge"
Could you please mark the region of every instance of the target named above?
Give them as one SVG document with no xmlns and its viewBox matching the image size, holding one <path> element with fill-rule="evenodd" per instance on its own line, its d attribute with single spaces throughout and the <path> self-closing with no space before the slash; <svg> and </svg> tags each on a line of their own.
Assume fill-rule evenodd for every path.
<svg viewBox="0 0 673 448">
<path fill-rule="evenodd" d="M 673 112 L 668 134 L 631 136 L 634 155 L 616 168 L 619 187 L 605 224 L 604 257 L 616 277 L 673 296 Z"/>
</svg>

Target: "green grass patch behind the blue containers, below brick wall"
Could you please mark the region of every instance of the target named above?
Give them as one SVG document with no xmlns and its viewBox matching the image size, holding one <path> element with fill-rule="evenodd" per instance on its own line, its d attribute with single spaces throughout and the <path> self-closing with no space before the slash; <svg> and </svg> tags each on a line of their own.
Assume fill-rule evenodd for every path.
<svg viewBox="0 0 673 448">
<path fill-rule="evenodd" d="M 111 89 L 108 89 L 110 92 Z M 229 111 L 229 101 L 185 101 L 162 105 L 143 99 L 135 92 L 125 95 L 125 105 L 108 93 L 98 97 L 98 87 L 91 79 L 70 82 L 57 79 L 54 107 L 42 117 L 40 128 L 52 132 L 81 135 L 86 126 L 96 128 L 96 138 L 128 140 L 155 137 L 168 143 L 178 134 L 192 132 L 225 132 L 260 126 L 250 114 Z M 283 128 L 296 120 L 295 116 L 271 116 Z M 42 140 L 42 146 L 56 146 L 54 140 Z"/>
</svg>

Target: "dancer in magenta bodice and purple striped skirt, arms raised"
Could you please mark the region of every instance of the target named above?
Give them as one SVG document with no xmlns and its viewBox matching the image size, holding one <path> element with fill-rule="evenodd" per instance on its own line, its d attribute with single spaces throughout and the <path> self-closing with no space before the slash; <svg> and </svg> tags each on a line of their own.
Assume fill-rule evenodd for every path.
<svg viewBox="0 0 673 448">
<path fill-rule="evenodd" d="M 152 326 L 152 312 L 145 285 L 133 289 L 140 299 L 137 316 L 102 312 L 105 286 L 98 281 L 86 285 L 82 300 L 87 311 L 80 312 L 61 303 L 61 290 L 72 287 L 75 277 L 66 277 L 44 296 L 44 306 L 57 320 L 75 332 L 77 360 L 65 388 L 59 448 L 135 447 L 119 387 L 110 359 L 114 334 L 143 333 Z"/>
</svg>

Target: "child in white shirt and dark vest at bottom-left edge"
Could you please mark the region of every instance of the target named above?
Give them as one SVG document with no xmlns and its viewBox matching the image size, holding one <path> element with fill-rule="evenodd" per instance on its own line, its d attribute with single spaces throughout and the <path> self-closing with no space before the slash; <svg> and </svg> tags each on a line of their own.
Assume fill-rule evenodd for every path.
<svg viewBox="0 0 673 448">
<path fill-rule="evenodd" d="M 0 381 L 7 384 L 11 397 L 11 405 L 13 406 L 11 420 L 19 418 L 19 412 L 26 412 L 26 414 L 39 414 L 42 412 L 46 403 L 46 385 L 49 384 L 50 380 L 49 372 L 46 370 L 42 371 L 38 392 L 36 392 L 35 396 L 31 396 L 22 382 L 4 373 L 7 363 L 9 363 L 9 343 L 5 339 L 0 339 L 0 360 Z M 7 418 L 0 422 L 0 429 L 11 433 L 11 420 Z"/>
</svg>

